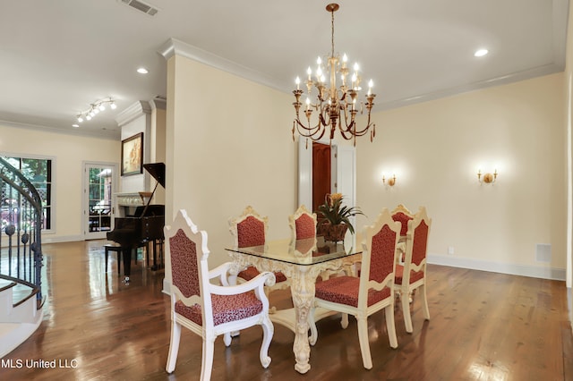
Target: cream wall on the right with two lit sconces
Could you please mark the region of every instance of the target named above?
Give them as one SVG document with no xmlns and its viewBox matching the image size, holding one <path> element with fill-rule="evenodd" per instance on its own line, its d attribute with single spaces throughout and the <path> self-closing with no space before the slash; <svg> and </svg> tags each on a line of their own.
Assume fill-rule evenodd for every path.
<svg viewBox="0 0 573 381">
<path fill-rule="evenodd" d="M 398 203 L 427 207 L 435 263 L 564 279 L 563 84 L 557 73 L 376 113 L 376 139 L 357 144 L 358 205 L 370 221 Z M 497 182 L 480 184 L 478 168 Z M 551 244 L 550 263 L 537 243 Z"/>
</svg>

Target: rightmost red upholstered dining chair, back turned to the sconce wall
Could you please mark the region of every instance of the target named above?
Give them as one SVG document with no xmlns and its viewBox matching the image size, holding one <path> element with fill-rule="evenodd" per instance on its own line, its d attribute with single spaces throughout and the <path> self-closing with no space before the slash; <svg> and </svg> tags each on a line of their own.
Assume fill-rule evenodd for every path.
<svg viewBox="0 0 573 381">
<path fill-rule="evenodd" d="M 406 257 L 404 265 L 398 264 L 396 267 L 396 289 L 402 295 L 402 310 L 404 312 L 404 323 L 406 332 L 412 333 L 412 317 L 410 316 L 410 298 L 404 295 L 411 295 L 417 288 L 422 294 L 423 318 L 430 320 L 430 310 L 428 309 L 428 298 L 426 296 L 426 251 L 428 248 L 428 236 L 432 219 L 428 218 L 425 207 L 420 207 L 414 219 L 408 222 L 406 234 Z"/>
</svg>

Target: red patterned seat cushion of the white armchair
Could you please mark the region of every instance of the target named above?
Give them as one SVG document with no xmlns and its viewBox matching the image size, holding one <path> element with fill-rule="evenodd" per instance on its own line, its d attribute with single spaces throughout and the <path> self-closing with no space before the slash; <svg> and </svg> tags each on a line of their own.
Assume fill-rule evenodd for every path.
<svg viewBox="0 0 573 381">
<path fill-rule="evenodd" d="M 250 318 L 262 311 L 262 302 L 254 292 L 244 292 L 236 295 L 211 294 L 213 304 L 213 325 Z M 175 302 L 175 312 L 202 326 L 201 306 L 185 306 L 183 301 Z"/>
</svg>

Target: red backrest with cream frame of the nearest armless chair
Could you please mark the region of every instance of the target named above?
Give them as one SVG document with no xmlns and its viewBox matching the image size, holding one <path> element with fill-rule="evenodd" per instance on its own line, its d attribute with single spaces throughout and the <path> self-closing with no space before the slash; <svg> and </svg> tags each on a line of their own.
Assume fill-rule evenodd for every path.
<svg viewBox="0 0 573 381">
<path fill-rule="evenodd" d="M 364 228 L 359 305 L 365 305 L 372 282 L 381 284 L 382 288 L 389 287 L 390 295 L 393 294 L 399 234 L 400 223 L 392 219 L 387 208 L 382 209 L 374 224 Z"/>
</svg>

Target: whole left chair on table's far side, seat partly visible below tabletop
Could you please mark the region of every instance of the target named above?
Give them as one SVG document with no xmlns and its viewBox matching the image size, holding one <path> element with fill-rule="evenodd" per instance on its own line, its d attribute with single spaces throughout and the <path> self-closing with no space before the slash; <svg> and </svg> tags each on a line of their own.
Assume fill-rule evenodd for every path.
<svg viewBox="0 0 573 381">
<path fill-rule="evenodd" d="M 229 218 L 229 231 L 233 236 L 234 247 L 247 248 L 264 245 L 267 231 L 269 230 L 268 221 L 268 217 L 262 217 L 251 206 L 245 207 L 241 216 Z M 250 266 L 239 272 L 237 277 L 248 281 L 257 275 L 259 275 L 259 270 Z M 284 274 L 277 272 L 275 276 L 277 283 L 271 287 L 271 290 L 283 289 L 289 286 L 290 283 Z"/>
</svg>

